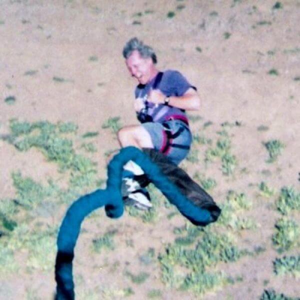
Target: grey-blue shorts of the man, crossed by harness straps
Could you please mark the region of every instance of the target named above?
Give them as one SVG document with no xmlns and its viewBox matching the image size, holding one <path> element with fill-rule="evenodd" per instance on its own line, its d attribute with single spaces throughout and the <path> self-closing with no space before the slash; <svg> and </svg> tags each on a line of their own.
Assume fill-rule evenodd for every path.
<svg viewBox="0 0 300 300">
<path fill-rule="evenodd" d="M 187 156 L 189 152 L 189 147 L 192 142 L 192 134 L 189 130 L 189 127 L 180 120 L 169 120 L 164 123 L 166 123 L 169 126 L 169 129 L 172 134 L 176 133 L 178 130 L 182 130 L 182 132 L 178 136 L 170 140 L 170 144 L 174 143 L 178 145 L 183 145 L 187 148 L 170 146 L 167 147 L 167 150 L 163 152 L 163 149 L 166 149 L 167 143 L 167 135 L 164 126 L 158 122 L 146 122 L 142 123 L 141 126 L 143 126 L 149 132 L 154 149 L 159 152 L 162 152 L 172 162 L 178 164 Z"/>
</svg>

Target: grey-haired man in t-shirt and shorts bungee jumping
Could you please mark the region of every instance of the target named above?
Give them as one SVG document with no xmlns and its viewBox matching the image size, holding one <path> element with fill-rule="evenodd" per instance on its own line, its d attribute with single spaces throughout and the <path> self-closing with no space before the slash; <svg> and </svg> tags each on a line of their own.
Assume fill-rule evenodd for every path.
<svg viewBox="0 0 300 300">
<path fill-rule="evenodd" d="M 129 73 L 138 81 L 134 109 L 141 124 L 124 126 L 118 131 L 120 146 L 154 148 L 178 164 L 188 154 L 192 141 L 185 110 L 199 109 L 196 88 L 178 71 L 160 72 L 155 66 L 153 49 L 136 37 L 125 44 L 123 57 Z M 124 169 L 123 183 L 129 185 L 125 200 L 133 201 L 141 209 L 151 207 L 149 194 L 132 177 L 132 173 L 142 176 L 143 171 L 132 161 Z"/>
</svg>

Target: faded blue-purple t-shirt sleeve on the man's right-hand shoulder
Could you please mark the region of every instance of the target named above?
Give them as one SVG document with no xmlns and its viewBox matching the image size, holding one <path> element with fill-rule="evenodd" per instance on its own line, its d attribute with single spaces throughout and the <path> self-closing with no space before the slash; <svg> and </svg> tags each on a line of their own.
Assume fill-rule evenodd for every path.
<svg viewBox="0 0 300 300">
<path fill-rule="evenodd" d="M 162 84 L 159 87 L 161 91 L 166 94 L 182 96 L 190 87 L 196 90 L 196 88 L 178 71 L 167 70 L 164 72 L 164 76 L 164 80 L 162 80 Z"/>
</svg>

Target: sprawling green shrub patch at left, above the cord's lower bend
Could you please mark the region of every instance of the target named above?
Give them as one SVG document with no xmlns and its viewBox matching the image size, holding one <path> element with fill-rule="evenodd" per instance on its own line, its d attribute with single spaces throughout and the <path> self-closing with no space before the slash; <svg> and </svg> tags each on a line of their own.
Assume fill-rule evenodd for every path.
<svg viewBox="0 0 300 300">
<path fill-rule="evenodd" d="M 23 196 L 23 204 L 33 203 L 35 200 L 41 201 L 45 197 L 64 198 L 64 200 L 68 201 L 73 197 L 79 196 L 83 191 L 87 192 L 96 187 L 98 179 L 96 177 L 96 163 L 88 157 L 76 153 L 72 140 L 65 137 L 65 134 L 76 133 L 76 124 L 72 122 L 52 124 L 48 121 L 37 121 L 30 124 L 12 119 L 10 120 L 10 130 L 10 141 L 17 149 L 26 151 L 31 147 L 35 147 L 49 161 L 56 162 L 60 172 L 65 170 L 71 171 L 69 178 L 70 187 L 64 192 L 59 190 L 53 183 L 49 183 L 48 187 L 42 187 L 32 179 L 20 179 L 20 175 L 14 173 L 12 175 L 14 185 L 19 195 L 23 193 L 21 195 Z M 91 143 L 86 144 L 85 147 L 89 151 L 94 150 Z M 26 201 L 29 202 L 25 203 Z"/>
</svg>

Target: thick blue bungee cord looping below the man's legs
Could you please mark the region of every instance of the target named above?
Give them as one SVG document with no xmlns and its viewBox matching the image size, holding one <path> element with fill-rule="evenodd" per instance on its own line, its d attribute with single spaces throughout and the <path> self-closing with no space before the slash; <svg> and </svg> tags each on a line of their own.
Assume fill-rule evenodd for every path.
<svg viewBox="0 0 300 300">
<path fill-rule="evenodd" d="M 102 206 L 105 206 L 105 212 L 108 217 L 117 218 L 123 214 L 124 206 L 120 191 L 121 174 L 123 165 L 128 160 L 133 160 L 137 163 L 150 181 L 189 220 L 202 225 L 215 220 L 209 210 L 200 208 L 184 196 L 178 187 L 161 172 L 160 168 L 145 153 L 133 146 L 121 148 L 119 153 L 108 164 L 106 188 L 97 189 L 78 198 L 71 204 L 63 218 L 57 237 L 55 300 L 75 298 L 72 260 L 80 225 L 84 217 Z"/>
</svg>

